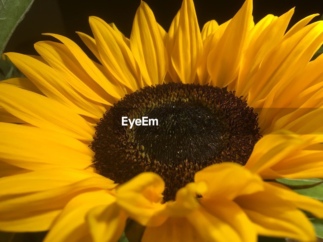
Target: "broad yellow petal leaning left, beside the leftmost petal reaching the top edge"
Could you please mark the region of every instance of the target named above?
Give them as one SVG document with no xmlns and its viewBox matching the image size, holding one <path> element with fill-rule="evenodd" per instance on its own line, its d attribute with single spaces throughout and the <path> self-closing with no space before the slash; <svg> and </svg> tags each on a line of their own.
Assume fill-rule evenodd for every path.
<svg viewBox="0 0 323 242">
<path fill-rule="evenodd" d="M 138 64 L 122 37 L 98 17 L 90 17 L 89 23 L 104 66 L 131 90 L 142 87 Z"/>
</svg>

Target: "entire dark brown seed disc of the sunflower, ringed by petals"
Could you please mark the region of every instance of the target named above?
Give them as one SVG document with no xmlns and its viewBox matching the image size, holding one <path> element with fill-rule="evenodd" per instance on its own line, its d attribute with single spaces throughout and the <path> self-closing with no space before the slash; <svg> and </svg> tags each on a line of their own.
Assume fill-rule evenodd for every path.
<svg viewBox="0 0 323 242">
<path fill-rule="evenodd" d="M 125 117 L 158 125 L 140 125 L 144 119 L 122 125 Z M 206 166 L 245 165 L 260 138 L 257 126 L 253 109 L 224 88 L 169 83 L 145 87 L 111 107 L 91 147 L 101 175 L 124 183 L 155 172 L 165 181 L 165 200 L 171 200 Z"/>
</svg>

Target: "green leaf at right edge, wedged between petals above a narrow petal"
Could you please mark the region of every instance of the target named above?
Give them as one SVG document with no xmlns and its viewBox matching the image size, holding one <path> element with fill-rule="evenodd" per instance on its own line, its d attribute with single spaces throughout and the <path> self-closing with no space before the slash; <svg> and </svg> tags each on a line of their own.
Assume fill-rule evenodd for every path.
<svg viewBox="0 0 323 242">
<path fill-rule="evenodd" d="M 279 183 L 282 183 L 284 185 L 291 186 L 293 189 L 293 186 L 297 186 L 298 188 L 301 188 L 302 186 L 307 185 L 317 185 L 308 187 L 306 189 L 293 189 L 295 192 L 302 194 L 307 197 L 312 197 L 318 200 L 323 201 L 323 183 L 321 183 L 323 180 L 318 178 L 312 178 L 312 179 L 277 179 Z"/>
</svg>

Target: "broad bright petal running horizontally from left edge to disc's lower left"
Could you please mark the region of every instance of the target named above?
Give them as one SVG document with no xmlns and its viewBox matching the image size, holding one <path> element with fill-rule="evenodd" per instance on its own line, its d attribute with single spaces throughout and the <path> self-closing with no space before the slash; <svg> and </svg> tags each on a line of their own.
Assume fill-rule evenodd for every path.
<svg viewBox="0 0 323 242">
<path fill-rule="evenodd" d="M 0 140 L 0 159 L 21 168 L 40 170 L 66 166 L 83 169 L 90 166 L 94 158 L 87 145 L 58 132 L 0 123 L 0 133 L 5 137 Z"/>
</svg>

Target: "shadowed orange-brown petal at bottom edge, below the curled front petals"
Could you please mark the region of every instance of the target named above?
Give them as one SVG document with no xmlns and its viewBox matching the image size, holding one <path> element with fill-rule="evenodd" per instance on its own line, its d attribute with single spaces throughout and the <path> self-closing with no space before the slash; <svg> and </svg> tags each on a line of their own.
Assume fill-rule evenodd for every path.
<svg viewBox="0 0 323 242">
<path fill-rule="evenodd" d="M 146 227 L 142 242 L 203 242 L 201 236 L 186 218 L 170 217 L 159 227 Z"/>
</svg>

